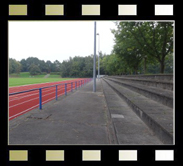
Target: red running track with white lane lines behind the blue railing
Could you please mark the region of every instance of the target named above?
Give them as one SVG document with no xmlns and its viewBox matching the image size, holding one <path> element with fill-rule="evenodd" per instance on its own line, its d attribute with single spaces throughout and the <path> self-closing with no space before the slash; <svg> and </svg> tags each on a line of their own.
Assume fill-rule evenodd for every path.
<svg viewBox="0 0 183 166">
<path fill-rule="evenodd" d="M 65 83 L 67 84 L 67 92 L 71 91 L 71 82 L 73 82 L 72 88 L 75 89 L 75 82 L 77 82 L 77 87 L 84 84 L 84 80 L 89 82 L 91 79 L 73 79 L 61 82 L 51 82 L 51 83 L 41 83 L 41 84 L 31 84 L 23 85 L 18 87 L 10 87 L 9 93 L 26 91 L 34 88 L 43 88 L 47 86 L 53 86 L 56 84 L 62 84 L 57 86 L 57 97 L 65 95 Z M 42 104 L 48 101 L 54 100 L 56 96 L 56 86 L 42 89 Z M 31 111 L 39 107 L 39 89 L 35 91 L 20 93 L 9 96 L 9 120 L 12 120 L 28 111 Z"/>
</svg>

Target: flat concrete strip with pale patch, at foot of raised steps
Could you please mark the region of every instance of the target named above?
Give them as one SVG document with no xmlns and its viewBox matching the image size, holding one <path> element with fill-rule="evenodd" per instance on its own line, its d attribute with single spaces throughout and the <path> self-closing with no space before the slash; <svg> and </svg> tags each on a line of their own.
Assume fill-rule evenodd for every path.
<svg viewBox="0 0 183 166">
<path fill-rule="evenodd" d="M 163 144 L 152 130 L 128 106 L 126 101 L 120 98 L 105 81 L 102 81 L 102 86 L 118 144 Z"/>
</svg>

